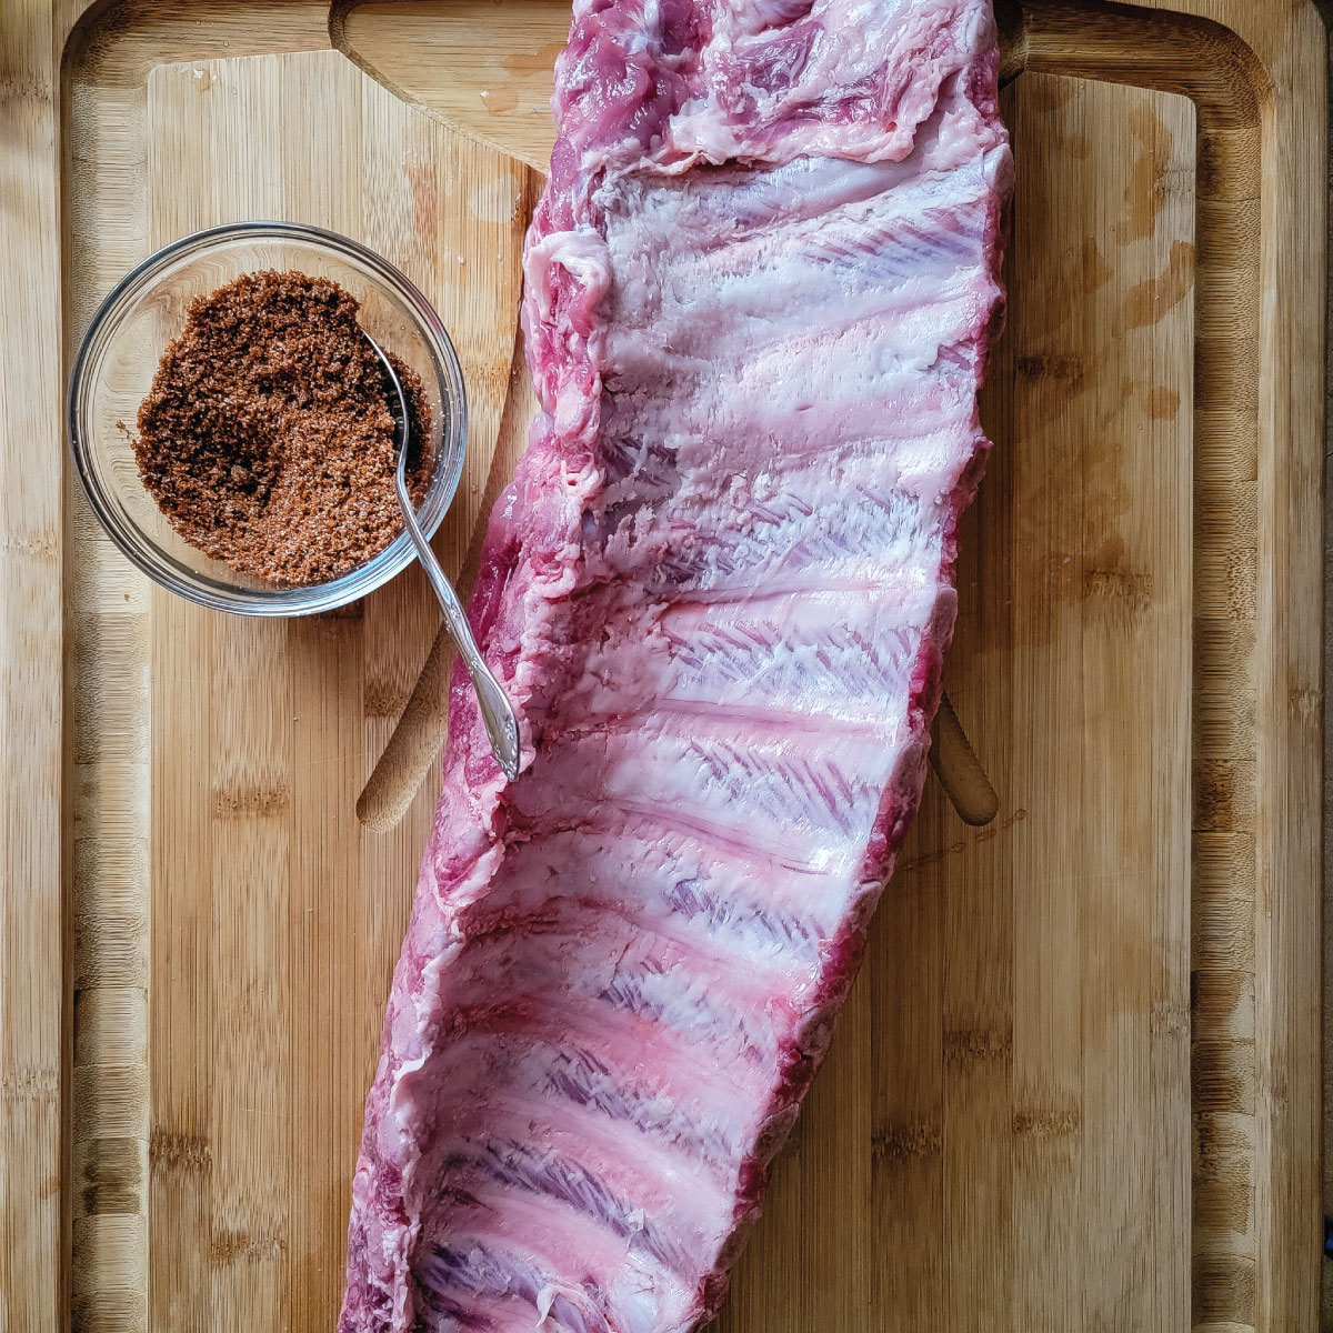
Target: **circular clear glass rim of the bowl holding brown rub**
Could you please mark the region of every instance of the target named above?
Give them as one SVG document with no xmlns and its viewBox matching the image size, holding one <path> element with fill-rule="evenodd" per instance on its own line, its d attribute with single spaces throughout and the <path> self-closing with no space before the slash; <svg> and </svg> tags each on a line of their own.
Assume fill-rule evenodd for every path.
<svg viewBox="0 0 1333 1333">
<path fill-rule="evenodd" d="M 97 521 L 117 549 L 149 579 L 213 611 L 241 616 L 312 616 L 321 611 L 345 607 L 401 573 L 416 555 L 408 533 L 400 532 L 384 551 L 364 565 L 357 565 L 356 569 L 323 584 L 296 588 L 240 588 L 220 584 L 205 575 L 192 572 L 183 575 L 181 567 L 175 560 L 116 512 L 108 499 L 109 488 L 92 459 L 92 447 L 83 429 L 83 420 L 89 407 L 89 372 L 101 364 L 121 319 L 144 289 L 165 268 L 201 251 L 212 249 L 220 243 L 244 239 L 305 241 L 333 251 L 369 269 L 379 281 L 396 292 L 420 320 L 443 372 L 440 397 L 445 413 L 445 421 L 441 424 L 440 460 L 431 489 L 417 513 L 427 537 L 433 536 L 453 503 L 467 453 L 468 400 L 457 352 L 435 307 L 405 273 L 375 251 L 321 227 L 271 220 L 225 223 L 221 227 L 208 227 L 181 236 L 136 264 L 97 307 L 88 332 L 79 344 L 65 396 L 65 431 L 75 471 Z"/>
</svg>

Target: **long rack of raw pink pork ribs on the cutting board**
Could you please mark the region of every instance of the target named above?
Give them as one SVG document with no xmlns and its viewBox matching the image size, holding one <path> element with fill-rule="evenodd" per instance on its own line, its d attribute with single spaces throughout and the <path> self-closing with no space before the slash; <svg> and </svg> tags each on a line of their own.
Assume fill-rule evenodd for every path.
<svg viewBox="0 0 1333 1333">
<path fill-rule="evenodd" d="M 716 1312 L 921 789 L 986 441 L 988 0 L 577 0 L 341 1329 Z"/>
</svg>

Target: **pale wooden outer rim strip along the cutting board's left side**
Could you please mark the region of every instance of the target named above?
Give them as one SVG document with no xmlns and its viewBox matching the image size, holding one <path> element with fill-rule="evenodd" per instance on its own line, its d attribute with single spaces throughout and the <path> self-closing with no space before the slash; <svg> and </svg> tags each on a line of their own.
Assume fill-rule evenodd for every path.
<svg viewBox="0 0 1333 1333">
<path fill-rule="evenodd" d="M 60 468 L 35 453 L 60 448 L 60 36 L 48 0 L 0 16 L 0 1325 L 19 1328 L 56 1326 L 64 1248 Z"/>
</svg>

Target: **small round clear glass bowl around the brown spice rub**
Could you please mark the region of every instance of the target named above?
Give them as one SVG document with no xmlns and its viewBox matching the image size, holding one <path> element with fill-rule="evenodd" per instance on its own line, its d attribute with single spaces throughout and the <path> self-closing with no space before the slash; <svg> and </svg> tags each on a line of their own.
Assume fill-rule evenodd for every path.
<svg viewBox="0 0 1333 1333">
<path fill-rule="evenodd" d="M 364 597 L 412 563 L 399 533 L 377 556 L 328 583 L 279 588 L 196 551 L 167 521 L 139 476 L 131 428 L 167 344 L 196 296 L 256 269 L 296 269 L 340 283 L 361 303 L 361 327 L 417 375 L 431 405 L 435 475 L 417 513 L 431 536 L 463 473 L 467 395 L 449 335 L 431 303 L 364 245 L 299 223 L 235 223 L 195 232 L 128 273 L 93 316 L 69 376 L 69 448 L 108 536 L 164 588 L 243 616 L 308 616 Z"/>
</svg>

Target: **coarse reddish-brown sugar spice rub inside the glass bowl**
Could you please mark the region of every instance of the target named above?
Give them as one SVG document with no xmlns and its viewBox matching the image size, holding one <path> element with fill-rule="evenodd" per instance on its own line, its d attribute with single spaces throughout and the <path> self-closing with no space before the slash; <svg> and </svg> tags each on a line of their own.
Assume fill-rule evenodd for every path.
<svg viewBox="0 0 1333 1333">
<path fill-rule="evenodd" d="M 325 583 L 403 529 L 393 491 L 389 384 L 337 283 L 247 273 L 189 305 L 139 408 L 135 457 L 171 525 L 232 569 Z M 431 409 L 389 356 L 408 400 L 408 489 L 429 481 Z"/>
</svg>

